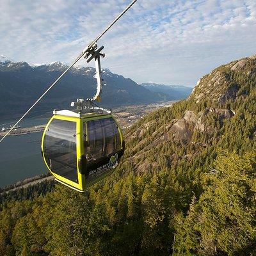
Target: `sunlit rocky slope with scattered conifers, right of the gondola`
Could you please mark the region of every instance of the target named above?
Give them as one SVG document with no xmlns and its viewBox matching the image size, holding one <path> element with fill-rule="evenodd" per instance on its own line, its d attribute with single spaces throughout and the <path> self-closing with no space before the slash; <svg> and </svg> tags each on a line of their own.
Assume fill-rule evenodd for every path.
<svg viewBox="0 0 256 256">
<path fill-rule="evenodd" d="M 199 156 L 203 161 L 218 147 L 241 150 L 239 140 L 256 148 L 255 107 L 256 56 L 215 68 L 199 79 L 187 100 L 150 114 L 127 131 L 129 164 L 146 172 L 163 163 L 196 162 Z"/>
</svg>

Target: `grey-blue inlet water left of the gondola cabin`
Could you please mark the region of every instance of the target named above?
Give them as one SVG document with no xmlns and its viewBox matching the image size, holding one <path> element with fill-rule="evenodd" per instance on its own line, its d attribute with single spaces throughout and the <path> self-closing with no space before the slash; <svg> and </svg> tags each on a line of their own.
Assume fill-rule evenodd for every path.
<svg viewBox="0 0 256 256">
<path fill-rule="evenodd" d="M 22 127 L 46 124 L 49 118 L 28 118 L 20 123 Z M 16 120 L 14 120 L 15 122 Z M 7 120 L 4 124 L 14 124 Z M 0 129 L 8 125 L 0 124 Z M 38 174 L 47 173 L 48 170 L 41 155 L 42 132 L 35 132 L 20 136 L 7 136 L 0 143 L 0 187 L 13 184 Z"/>
</svg>

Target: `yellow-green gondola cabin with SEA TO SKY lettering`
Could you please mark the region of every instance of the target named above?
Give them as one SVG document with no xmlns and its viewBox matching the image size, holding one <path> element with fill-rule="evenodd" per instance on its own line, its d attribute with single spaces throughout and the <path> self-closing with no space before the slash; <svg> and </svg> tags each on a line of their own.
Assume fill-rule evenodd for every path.
<svg viewBox="0 0 256 256">
<path fill-rule="evenodd" d="M 55 111 L 42 137 L 42 155 L 59 182 L 78 191 L 113 172 L 124 154 L 122 131 L 111 114 Z"/>
</svg>

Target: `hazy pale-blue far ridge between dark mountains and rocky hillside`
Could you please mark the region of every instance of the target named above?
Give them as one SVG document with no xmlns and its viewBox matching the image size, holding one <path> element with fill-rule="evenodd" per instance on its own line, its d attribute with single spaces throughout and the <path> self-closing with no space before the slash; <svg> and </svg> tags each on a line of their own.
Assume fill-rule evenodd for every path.
<svg viewBox="0 0 256 256">
<path fill-rule="evenodd" d="M 169 100 L 186 99 L 192 92 L 193 88 L 183 85 L 166 85 L 154 82 L 142 83 L 141 86 L 151 92 L 164 93 L 168 95 Z"/>
</svg>

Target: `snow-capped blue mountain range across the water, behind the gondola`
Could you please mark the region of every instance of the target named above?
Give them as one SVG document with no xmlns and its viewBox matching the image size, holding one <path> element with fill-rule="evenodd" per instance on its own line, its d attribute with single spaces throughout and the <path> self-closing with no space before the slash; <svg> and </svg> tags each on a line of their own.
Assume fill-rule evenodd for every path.
<svg viewBox="0 0 256 256">
<path fill-rule="evenodd" d="M 35 102 L 48 86 L 68 66 L 60 61 L 29 65 L 21 61 L 8 60 L 0 56 L 0 116 L 10 118 L 20 116 Z M 108 68 L 102 70 L 104 86 L 102 90 L 101 106 L 113 108 L 129 104 L 147 104 L 163 100 L 182 99 L 186 97 L 184 87 L 173 91 L 175 95 L 164 93 L 163 90 L 148 90 L 132 79 L 113 74 Z M 33 113 L 42 114 L 52 109 L 63 109 L 70 106 L 70 102 L 93 96 L 96 91 L 95 68 L 73 67 L 60 83 L 52 88 L 44 99 L 35 107 Z M 190 89 L 189 89 L 190 90 Z M 166 91 L 167 92 L 167 91 Z"/>
</svg>

